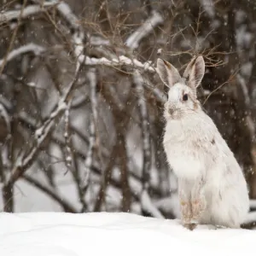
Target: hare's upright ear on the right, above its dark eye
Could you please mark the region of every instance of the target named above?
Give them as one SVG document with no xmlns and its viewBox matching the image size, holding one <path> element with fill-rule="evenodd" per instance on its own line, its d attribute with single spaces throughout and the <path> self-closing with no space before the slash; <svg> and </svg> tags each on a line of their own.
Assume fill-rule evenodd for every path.
<svg viewBox="0 0 256 256">
<path fill-rule="evenodd" d="M 201 84 L 201 79 L 205 74 L 205 61 L 202 56 L 194 57 L 189 65 L 186 67 L 183 78 L 189 82 L 189 86 L 192 88 L 198 87 Z"/>
</svg>

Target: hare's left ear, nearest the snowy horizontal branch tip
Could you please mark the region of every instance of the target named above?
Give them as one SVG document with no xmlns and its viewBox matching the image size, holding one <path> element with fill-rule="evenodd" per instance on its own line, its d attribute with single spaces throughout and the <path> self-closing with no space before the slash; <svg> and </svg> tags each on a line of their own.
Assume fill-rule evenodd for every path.
<svg viewBox="0 0 256 256">
<path fill-rule="evenodd" d="M 181 77 L 177 69 L 168 61 L 157 59 L 156 71 L 162 82 L 168 87 L 171 87 L 173 84 L 181 81 Z"/>
</svg>

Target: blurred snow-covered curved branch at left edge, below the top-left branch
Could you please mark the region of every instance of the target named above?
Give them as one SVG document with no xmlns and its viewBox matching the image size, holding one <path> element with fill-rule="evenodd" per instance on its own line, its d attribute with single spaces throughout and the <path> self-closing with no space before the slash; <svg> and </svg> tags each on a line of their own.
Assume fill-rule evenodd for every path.
<svg viewBox="0 0 256 256">
<path fill-rule="evenodd" d="M 44 51 L 45 51 L 44 47 L 38 44 L 26 44 L 26 45 L 20 46 L 17 49 L 13 49 L 12 51 L 10 51 L 7 57 L 7 61 L 11 61 L 15 59 L 17 56 L 23 55 L 27 52 L 32 52 L 34 53 L 34 55 L 40 55 Z M 3 65 L 3 61 L 4 60 L 0 60 L 0 66 Z"/>
</svg>

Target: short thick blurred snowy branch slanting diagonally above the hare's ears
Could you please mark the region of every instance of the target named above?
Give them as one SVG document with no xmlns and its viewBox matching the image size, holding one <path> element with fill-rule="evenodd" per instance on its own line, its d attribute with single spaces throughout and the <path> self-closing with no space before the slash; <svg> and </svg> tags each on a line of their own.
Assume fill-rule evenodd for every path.
<svg viewBox="0 0 256 256">
<path fill-rule="evenodd" d="M 158 26 L 163 21 L 163 17 L 158 12 L 154 11 L 151 17 L 149 17 L 148 20 L 145 20 L 143 25 L 133 32 L 129 38 L 127 38 L 125 44 L 130 49 L 137 49 L 140 41 L 148 36 L 148 34 L 154 30 L 154 27 Z"/>
</svg>

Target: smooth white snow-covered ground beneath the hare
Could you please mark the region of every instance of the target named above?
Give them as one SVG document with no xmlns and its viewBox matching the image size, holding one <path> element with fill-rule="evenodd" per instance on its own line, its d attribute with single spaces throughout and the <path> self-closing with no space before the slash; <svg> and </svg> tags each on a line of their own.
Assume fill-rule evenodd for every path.
<svg viewBox="0 0 256 256">
<path fill-rule="evenodd" d="M 131 213 L 0 213 L 0 255 L 245 255 L 253 230 L 186 230 Z"/>
</svg>

